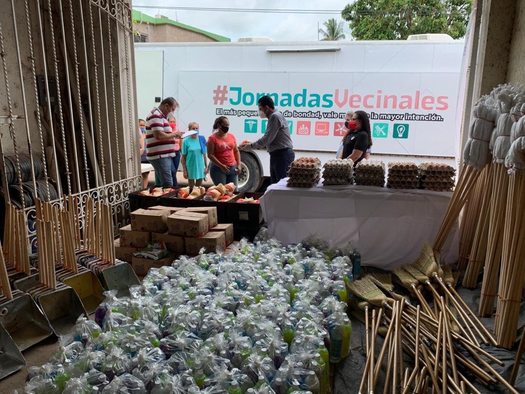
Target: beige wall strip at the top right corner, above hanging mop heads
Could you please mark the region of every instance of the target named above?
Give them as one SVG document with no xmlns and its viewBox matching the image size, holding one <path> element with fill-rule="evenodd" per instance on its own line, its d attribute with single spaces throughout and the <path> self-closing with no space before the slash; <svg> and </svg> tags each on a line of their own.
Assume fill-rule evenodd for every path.
<svg viewBox="0 0 525 394">
<path fill-rule="evenodd" d="M 516 1 L 507 81 L 525 85 L 525 0 Z"/>
</svg>

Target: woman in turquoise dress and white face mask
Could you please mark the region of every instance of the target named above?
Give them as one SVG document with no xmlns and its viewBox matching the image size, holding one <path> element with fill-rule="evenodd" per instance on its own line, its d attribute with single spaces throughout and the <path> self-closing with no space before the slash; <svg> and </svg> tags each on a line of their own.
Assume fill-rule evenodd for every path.
<svg viewBox="0 0 525 394">
<path fill-rule="evenodd" d="M 193 190 L 194 186 L 202 186 L 202 181 L 208 173 L 208 157 L 206 138 L 199 136 L 198 123 L 191 122 L 188 131 L 182 136 L 182 168 L 184 179 Z"/>
</svg>

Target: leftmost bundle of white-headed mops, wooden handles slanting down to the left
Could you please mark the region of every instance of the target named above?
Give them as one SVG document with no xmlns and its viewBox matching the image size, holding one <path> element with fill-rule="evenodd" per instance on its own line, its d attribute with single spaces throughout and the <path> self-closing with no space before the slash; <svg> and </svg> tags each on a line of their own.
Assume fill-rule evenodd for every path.
<svg viewBox="0 0 525 394">
<path fill-rule="evenodd" d="M 488 144 L 497 115 L 497 111 L 492 106 L 493 102 L 490 102 L 490 97 L 484 96 L 478 100 L 472 111 L 473 120 L 470 123 L 469 139 L 463 151 L 465 165 L 459 173 L 456 189 L 434 240 L 434 251 L 438 255 L 463 209 L 467 196 L 476 184 L 481 170 L 488 163 Z"/>
</svg>

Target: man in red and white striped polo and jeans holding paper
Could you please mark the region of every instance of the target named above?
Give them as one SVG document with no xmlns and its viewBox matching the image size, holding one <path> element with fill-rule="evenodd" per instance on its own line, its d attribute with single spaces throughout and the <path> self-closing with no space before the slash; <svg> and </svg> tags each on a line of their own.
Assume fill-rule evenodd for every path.
<svg viewBox="0 0 525 394">
<path fill-rule="evenodd" d="M 172 157 L 175 156 L 175 138 L 182 137 L 182 133 L 173 131 L 168 119 L 175 117 L 178 107 L 173 97 L 167 97 L 158 108 L 153 108 L 146 118 L 146 158 L 153 165 L 164 188 L 173 186 L 171 173 Z"/>
</svg>

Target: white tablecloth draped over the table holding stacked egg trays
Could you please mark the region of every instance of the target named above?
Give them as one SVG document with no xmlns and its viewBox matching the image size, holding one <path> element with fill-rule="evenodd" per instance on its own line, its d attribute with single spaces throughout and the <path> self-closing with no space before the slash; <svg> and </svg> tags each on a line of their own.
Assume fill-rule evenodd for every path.
<svg viewBox="0 0 525 394">
<path fill-rule="evenodd" d="M 393 190 L 374 186 L 287 188 L 286 179 L 261 198 L 269 233 L 283 244 L 317 235 L 343 247 L 352 242 L 361 264 L 392 269 L 412 263 L 439 230 L 452 193 Z M 442 263 L 458 258 L 457 223 L 442 251 Z"/>
</svg>

